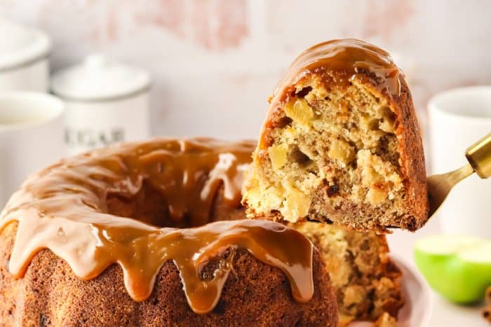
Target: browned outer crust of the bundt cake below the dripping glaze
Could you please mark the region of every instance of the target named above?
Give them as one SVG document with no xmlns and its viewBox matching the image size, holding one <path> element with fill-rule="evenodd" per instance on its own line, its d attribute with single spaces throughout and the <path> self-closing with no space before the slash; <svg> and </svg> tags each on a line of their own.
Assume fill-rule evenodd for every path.
<svg viewBox="0 0 491 327">
<path fill-rule="evenodd" d="M 126 292 L 121 267 L 83 281 L 49 250 L 34 256 L 23 279 L 13 279 L 6 263 L 15 230 L 8 225 L 0 237 L 1 326 L 337 326 L 335 294 L 317 251 L 311 301 L 293 300 L 281 271 L 239 250 L 220 302 L 209 314 L 195 314 L 171 262 L 143 302 Z"/>
</svg>

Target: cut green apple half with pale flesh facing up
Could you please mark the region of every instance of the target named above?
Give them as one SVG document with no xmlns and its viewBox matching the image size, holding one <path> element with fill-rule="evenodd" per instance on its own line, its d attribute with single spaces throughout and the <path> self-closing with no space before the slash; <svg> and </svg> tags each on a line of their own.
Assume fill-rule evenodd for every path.
<svg viewBox="0 0 491 327">
<path fill-rule="evenodd" d="M 416 265 L 435 291 L 452 302 L 483 299 L 491 285 L 491 240 L 438 235 L 419 239 Z"/>
</svg>

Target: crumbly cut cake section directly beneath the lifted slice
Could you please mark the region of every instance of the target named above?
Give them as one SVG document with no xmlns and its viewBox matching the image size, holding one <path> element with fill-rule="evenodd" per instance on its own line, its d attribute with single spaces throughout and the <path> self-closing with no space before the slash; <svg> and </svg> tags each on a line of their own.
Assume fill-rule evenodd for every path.
<svg viewBox="0 0 491 327">
<path fill-rule="evenodd" d="M 337 295 L 342 326 L 377 320 L 379 326 L 391 326 L 389 322 L 404 303 L 401 271 L 388 256 L 385 235 L 314 222 L 290 227 L 309 237 L 321 252 Z"/>
</svg>

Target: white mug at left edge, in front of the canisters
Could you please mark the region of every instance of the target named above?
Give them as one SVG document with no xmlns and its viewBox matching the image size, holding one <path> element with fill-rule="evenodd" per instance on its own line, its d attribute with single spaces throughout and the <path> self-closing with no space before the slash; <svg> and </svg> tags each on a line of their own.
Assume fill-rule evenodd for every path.
<svg viewBox="0 0 491 327">
<path fill-rule="evenodd" d="M 0 209 L 29 174 L 65 156 L 63 102 L 38 92 L 0 92 Z"/>
</svg>

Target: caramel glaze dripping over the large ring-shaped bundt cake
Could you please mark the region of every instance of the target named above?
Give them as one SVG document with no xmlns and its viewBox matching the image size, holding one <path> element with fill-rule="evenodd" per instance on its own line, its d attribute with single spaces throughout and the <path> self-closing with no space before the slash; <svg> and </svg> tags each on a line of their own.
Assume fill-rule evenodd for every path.
<svg viewBox="0 0 491 327">
<path fill-rule="evenodd" d="M 18 222 L 9 270 L 22 277 L 45 248 L 81 279 L 93 279 L 118 263 L 129 295 L 142 301 L 152 293 L 161 265 L 173 260 L 191 309 L 206 313 L 219 300 L 234 250 L 241 247 L 282 270 L 295 300 L 307 302 L 314 292 L 313 249 L 300 232 L 269 221 L 208 223 L 222 185 L 224 202 L 240 206 L 243 171 L 254 146 L 156 139 L 79 155 L 30 176 L 0 215 L 0 230 Z M 170 225 L 187 219 L 192 228 L 149 225 L 109 212 L 109 195 L 130 197 L 144 183 L 161 193 Z M 219 268 L 204 279 L 201 270 L 217 257 Z"/>
</svg>

